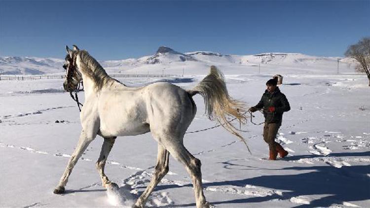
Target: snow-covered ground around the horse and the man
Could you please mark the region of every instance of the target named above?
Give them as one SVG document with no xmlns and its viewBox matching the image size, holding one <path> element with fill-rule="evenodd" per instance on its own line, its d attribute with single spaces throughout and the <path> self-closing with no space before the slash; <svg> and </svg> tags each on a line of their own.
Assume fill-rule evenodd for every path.
<svg viewBox="0 0 370 208">
<path fill-rule="evenodd" d="M 166 72 L 170 73 L 171 66 L 182 71 L 187 63 L 169 64 Z M 162 72 L 164 65 L 147 66 Z M 218 66 L 229 94 L 249 106 L 258 103 L 273 74 L 284 76 L 280 89 L 292 109 L 284 114 L 277 141 L 290 155 L 268 161 L 262 126 L 251 122 L 242 126 L 248 131 L 242 134 L 252 155 L 222 128 L 186 134 L 185 146 L 202 161 L 204 193 L 211 204 L 220 208 L 370 207 L 370 91 L 365 75 L 336 74 L 336 65 L 330 72 L 330 67 L 276 63 L 261 68 L 261 73 L 258 67 L 241 71 L 242 66 L 225 62 Z M 206 67 L 193 69 L 184 77 L 165 81 L 190 89 L 207 72 Z M 119 80 L 129 86 L 161 81 Z M 150 133 L 117 138 L 106 174 L 120 186 L 119 194 L 101 186 L 95 169 L 103 143 L 100 137 L 75 166 L 66 194 L 52 193 L 81 130 L 78 108 L 63 92 L 62 82 L 0 81 L 0 207 L 130 206 L 153 173 L 157 145 Z M 83 93 L 79 97 L 83 100 Z M 215 126 L 203 115 L 203 98 L 197 95 L 194 100 L 198 111 L 188 131 Z M 255 115 L 255 123 L 263 121 L 262 114 Z M 170 172 L 147 206 L 195 207 L 190 178 L 173 158 Z"/>
</svg>

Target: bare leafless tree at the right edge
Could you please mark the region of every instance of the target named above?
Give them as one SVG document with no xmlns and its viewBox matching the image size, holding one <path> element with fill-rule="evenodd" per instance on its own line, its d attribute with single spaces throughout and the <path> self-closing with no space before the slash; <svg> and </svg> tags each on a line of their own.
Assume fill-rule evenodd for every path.
<svg viewBox="0 0 370 208">
<path fill-rule="evenodd" d="M 356 59 L 359 63 L 356 70 L 368 75 L 370 86 L 370 37 L 364 37 L 358 43 L 350 45 L 344 55 Z"/>
</svg>

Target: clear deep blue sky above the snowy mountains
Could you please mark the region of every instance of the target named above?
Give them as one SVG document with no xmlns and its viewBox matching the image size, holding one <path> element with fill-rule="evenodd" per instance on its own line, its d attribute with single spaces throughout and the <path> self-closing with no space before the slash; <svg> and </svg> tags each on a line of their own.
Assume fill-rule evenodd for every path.
<svg viewBox="0 0 370 208">
<path fill-rule="evenodd" d="M 159 46 L 222 54 L 343 56 L 370 36 L 370 0 L 0 0 L 0 56 L 64 58 L 76 44 L 98 60 Z"/>
</svg>

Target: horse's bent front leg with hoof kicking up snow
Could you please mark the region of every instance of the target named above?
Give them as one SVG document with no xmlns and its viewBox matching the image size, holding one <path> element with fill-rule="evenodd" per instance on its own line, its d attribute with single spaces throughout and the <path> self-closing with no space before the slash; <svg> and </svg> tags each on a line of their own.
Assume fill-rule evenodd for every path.
<svg viewBox="0 0 370 208">
<path fill-rule="evenodd" d="M 112 183 L 108 179 L 107 175 L 104 173 L 104 167 L 106 165 L 108 155 L 111 152 L 115 139 L 116 137 L 104 138 L 102 150 L 100 152 L 99 159 L 96 162 L 96 168 L 98 169 L 100 177 L 102 179 L 102 186 L 105 188 L 109 188 L 109 186 L 111 186 L 110 188 L 118 187 L 115 183 Z"/>
</svg>

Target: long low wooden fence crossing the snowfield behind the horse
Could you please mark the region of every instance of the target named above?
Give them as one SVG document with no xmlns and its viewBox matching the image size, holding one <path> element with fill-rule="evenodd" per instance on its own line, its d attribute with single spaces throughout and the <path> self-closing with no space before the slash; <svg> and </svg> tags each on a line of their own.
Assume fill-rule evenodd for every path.
<svg viewBox="0 0 370 208">
<path fill-rule="evenodd" d="M 121 77 L 178 77 L 175 74 L 110 74 L 113 78 Z M 64 79 L 65 75 L 0 75 L 1 80 L 36 80 L 36 79 Z"/>
</svg>

